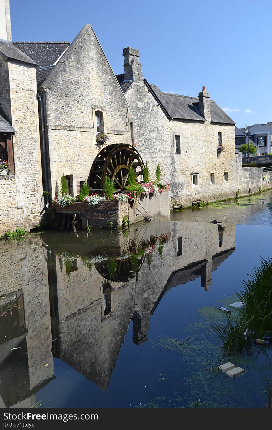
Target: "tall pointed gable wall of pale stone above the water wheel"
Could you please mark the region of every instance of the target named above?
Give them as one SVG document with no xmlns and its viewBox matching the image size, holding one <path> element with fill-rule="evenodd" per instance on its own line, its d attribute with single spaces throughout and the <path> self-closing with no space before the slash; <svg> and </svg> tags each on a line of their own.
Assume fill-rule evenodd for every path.
<svg viewBox="0 0 272 430">
<path fill-rule="evenodd" d="M 131 143 L 128 103 L 90 25 L 86 25 L 43 83 L 46 138 L 51 190 L 54 197 L 61 175 L 77 184 L 89 177 L 96 155 L 95 112 L 104 117 L 107 144 Z"/>
</svg>

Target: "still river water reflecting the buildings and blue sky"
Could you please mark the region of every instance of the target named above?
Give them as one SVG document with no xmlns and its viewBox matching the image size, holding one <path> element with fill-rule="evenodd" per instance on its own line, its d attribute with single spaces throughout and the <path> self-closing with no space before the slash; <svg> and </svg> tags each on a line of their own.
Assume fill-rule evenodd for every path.
<svg viewBox="0 0 272 430">
<path fill-rule="evenodd" d="M 271 347 L 224 357 L 211 325 L 271 257 L 271 197 L 0 243 L 0 407 L 264 407 Z"/>
</svg>

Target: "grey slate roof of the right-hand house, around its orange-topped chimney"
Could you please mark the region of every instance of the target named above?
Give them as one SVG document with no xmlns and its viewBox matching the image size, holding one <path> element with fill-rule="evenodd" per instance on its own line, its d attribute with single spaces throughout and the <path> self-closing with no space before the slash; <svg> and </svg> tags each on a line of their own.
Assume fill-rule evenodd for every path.
<svg viewBox="0 0 272 430">
<path fill-rule="evenodd" d="M 158 86 L 145 82 L 156 95 L 159 103 L 172 119 L 182 120 L 197 120 L 205 121 L 199 114 L 197 97 L 189 97 L 187 95 L 171 94 L 162 92 Z M 211 122 L 220 124 L 235 124 L 235 122 L 224 112 L 215 101 L 210 101 L 211 106 Z"/>
</svg>

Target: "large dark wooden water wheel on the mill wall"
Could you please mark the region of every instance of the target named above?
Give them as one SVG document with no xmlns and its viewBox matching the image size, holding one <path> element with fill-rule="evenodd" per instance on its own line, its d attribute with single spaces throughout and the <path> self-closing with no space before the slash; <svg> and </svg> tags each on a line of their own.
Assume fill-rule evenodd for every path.
<svg viewBox="0 0 272 430">
<path fill-rule="evenodd" d="M 116 191 L 128 185 L 128 170 L 133 167 L 138 181 L 144 175 L 144 163 L 138 151 L 131 145 L 108 145 L 100 151 L 92 164 L 89 185 L 95 189 L 103 189 L 106 175 L 115 182 Z"/>
</svg>

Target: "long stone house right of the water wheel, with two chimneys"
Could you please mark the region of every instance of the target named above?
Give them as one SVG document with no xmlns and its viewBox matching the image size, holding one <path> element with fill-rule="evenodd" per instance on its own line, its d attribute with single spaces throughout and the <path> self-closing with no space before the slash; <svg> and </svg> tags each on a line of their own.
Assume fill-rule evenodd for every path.
<svg viewBox="0 0 272 430">
<path fill-rule="evenodd" d="M 130 106 L 132 139 L 153 178 L 160 163 L 171 183 L 171 206 L 233 197 L 242 172 L 234 121 L 205 87 L 198 98 L 162 92 L 144 79 L 138 49 L 125 48 L 123 55 L 124 74 L 117 78 Z"/>
</svg>

